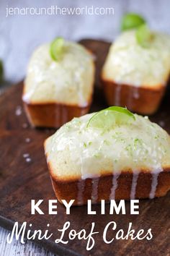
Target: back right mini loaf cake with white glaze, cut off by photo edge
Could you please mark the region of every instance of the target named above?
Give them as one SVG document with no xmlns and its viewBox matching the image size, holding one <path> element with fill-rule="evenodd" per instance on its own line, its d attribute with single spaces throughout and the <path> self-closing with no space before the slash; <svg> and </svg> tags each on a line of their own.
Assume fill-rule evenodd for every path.
<svg viewBox="0 0 170 256">
<path fill-rule="evenodd" d="M 127 106 L 153 114 L 161 103 L 170 74 L 170 36 L 152 33 L 143 47 L 136 30 L 122 33 L 109 48 L 102 84 L 109 106 Z"/>
</svg>

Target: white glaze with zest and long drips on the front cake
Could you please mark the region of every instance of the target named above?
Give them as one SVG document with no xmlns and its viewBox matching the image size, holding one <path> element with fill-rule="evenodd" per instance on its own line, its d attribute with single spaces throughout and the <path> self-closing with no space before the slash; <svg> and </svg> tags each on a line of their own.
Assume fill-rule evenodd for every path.
<svg viewBox="0 0 170 256">
<path fill-rule="evenodd" d="M 99 177 L 95 177 L 100 175 L 99 170 L 104 169 L 103 166 L 108 166 L 106 170 L 111 168 L 114 170 L 110 199 L 115 198 L 119 171 L 124 168 L 134 170 L 130 189 L 130 198 L 133 199 L 138 185 L 136 170 L 143 165 L 146 169 L 153 170 L 150 171 L 153 177 L 151 192 L 148 193 L 148 196 L 153 198 L 158 184 L 158 174 L 162 171 L 161 165 L 164 159 L 169 159 L 169 135 L 146 117 L 136 114 L 134 124 L 125 127 L 115 126 L 114 129 L 102 133 L 99 129 L 86 129 L 86 122 L 90 116 L 91 114 L 73 119 L 53 135 L 51 142 L 51 138 L 48 139 L 50 143 L 47 152 L 50 152 L 50 161 L 55 161 L 53 164 L 56 165 L 56 153 L 60 155 L 68 150 L 76 168 L 80 171 L 81 179 L 92 180 L 92 202 L 98 200 Z M 140 129 L 145 132 L 140 132 Z M 81 202 L 81 191 L 78 193 Z"/>
</svg>

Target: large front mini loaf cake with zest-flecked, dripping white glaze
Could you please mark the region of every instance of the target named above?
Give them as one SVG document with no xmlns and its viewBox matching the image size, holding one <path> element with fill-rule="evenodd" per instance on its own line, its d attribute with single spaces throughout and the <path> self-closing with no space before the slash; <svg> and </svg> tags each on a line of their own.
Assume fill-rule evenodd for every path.
<svg viewBox="0 0 170 256">
<path fill-rule="evenodd" d="M 113 107 L 100 116 L 101 111 L 75 118 L 45 141 L 58 200 L 83 205 L 89 199 L 96 203 L 166 195 L 170 137 L 164 129 L 148 117 L 135 114 L 132 119 L 124 108 L 117 114 Z"/>
</svg>

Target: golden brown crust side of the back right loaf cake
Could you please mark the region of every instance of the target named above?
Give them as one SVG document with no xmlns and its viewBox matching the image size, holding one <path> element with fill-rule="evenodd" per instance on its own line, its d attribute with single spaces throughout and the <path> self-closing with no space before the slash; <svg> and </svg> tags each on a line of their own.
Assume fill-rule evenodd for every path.
<svg viewBox="0 0 170 256">
<path fill-rule="evenodd" d="M 104 94 L 109 106 L 123 106 L 139 114 L 155 113 L 164 96 L 166 86 L 157 88 L 135 87 L 133 85 L 117 84 L 102 78 Z"/>
</svg>

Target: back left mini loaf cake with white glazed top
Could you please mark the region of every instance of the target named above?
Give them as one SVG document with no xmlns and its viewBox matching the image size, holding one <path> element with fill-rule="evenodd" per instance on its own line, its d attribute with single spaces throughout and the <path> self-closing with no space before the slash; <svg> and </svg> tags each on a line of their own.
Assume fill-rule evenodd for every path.
<svg viewBox="0 0 170 256">
<path fill-rule="evenodd" d="M 53 59 L 50 47 L 47 43 L 35 50 L 24 81 L 22 100 L 33 127 L 61 127 L 86 114 L 91 105 L 92 54 L 79 43 L 63 40 L 63 54 Z"/>
</svg>

